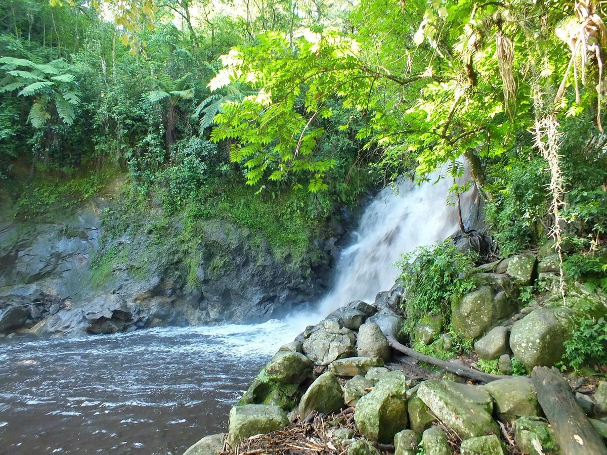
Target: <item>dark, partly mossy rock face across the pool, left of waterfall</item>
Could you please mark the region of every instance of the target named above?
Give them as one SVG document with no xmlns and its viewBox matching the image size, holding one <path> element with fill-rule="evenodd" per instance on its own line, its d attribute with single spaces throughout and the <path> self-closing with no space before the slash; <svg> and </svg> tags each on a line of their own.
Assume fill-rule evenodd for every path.
<svg viewBox="0 0 607 455">
<path fill-rule="evenodd" d="M 336 220 L 294 265 L 262 235 L 225 220 L 200 221 L 192 244 L 180 219 L 152 207 L 148 224 L 108 238 L 118 195 L 44 219 L 0 220 L 0 335 L 81 335 L 155 326 L 252 323 L 287 314 L 325 292 L 345 234 Z M 152 229 L 164 217 L 174 237 Z M 150 221 L 151 220 L 151 221 Z M 115 221 L 112 219 L 112 221 Z M 187 246 L 187 251 L 183 249 Z"/>
</svg>

